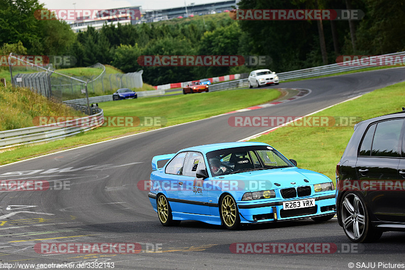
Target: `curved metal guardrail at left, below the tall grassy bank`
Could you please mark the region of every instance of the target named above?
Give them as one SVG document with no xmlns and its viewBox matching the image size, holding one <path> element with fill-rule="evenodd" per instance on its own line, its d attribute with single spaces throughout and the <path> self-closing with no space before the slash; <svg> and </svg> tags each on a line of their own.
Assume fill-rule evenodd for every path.
<svg viewBox="0 0 405 270">
<path fill-rule="evenodd" d="M 59 140 L 100 127 L 104 123 L 104 112 L 100 108 L 93 108 L 93 110 L 98 112 L 88 117 L 43 126 L 0 131 L 0 149 Z"/>
</svg>

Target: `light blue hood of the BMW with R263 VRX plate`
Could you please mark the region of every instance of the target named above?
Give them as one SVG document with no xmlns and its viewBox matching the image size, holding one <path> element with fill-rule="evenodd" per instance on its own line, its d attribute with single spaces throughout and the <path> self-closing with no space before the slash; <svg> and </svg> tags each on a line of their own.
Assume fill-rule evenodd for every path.
<svg viewBox="0 0 405 270">
<path fill-rule="evenodd" d="M 233 185 L 237 185 L 235 190 L 252 192 L 331 182 L 331 179 L 323 174 L 297 167 L 227 174 L 210 179 L 232 181 Z"/>
</svg>

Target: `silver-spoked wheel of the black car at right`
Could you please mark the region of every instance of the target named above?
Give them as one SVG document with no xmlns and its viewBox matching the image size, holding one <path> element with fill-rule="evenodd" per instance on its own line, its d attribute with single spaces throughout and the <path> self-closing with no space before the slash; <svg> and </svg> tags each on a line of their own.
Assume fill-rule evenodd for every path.
<svg viewBox="0 0 405 270">
<path fill-rule="evenodd" d="M 381 237 L 382 231 L 373 227 L 362 196 L 348 192 L 339 207 L 343 230 L 352 242 L 373 242 Z"/>
</svg>

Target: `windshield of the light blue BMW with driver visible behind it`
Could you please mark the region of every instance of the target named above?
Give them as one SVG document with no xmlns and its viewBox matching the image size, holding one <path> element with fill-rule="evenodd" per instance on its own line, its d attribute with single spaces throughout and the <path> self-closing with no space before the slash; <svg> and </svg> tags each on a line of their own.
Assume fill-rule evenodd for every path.
<svg viewBox="0 0 405 270">
<path fill-rule="evenodd" d="M 211 151 L 207 153 L 207 160 L 213 176 L 294 167 L 281 153 L 265 145 Z"/>
</svg>

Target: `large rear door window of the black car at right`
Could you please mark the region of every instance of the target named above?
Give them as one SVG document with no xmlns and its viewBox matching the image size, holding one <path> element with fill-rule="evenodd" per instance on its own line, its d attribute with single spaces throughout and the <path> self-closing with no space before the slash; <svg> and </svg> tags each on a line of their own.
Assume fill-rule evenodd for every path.
<svg viewBox="0 0 405 270">
<path fill-rule="evenodd" d="M 373 157 L 400 157 L 398 146 L 403 119 L 395 119 L 377 124 L 371 149 Z"/>
</svg>

